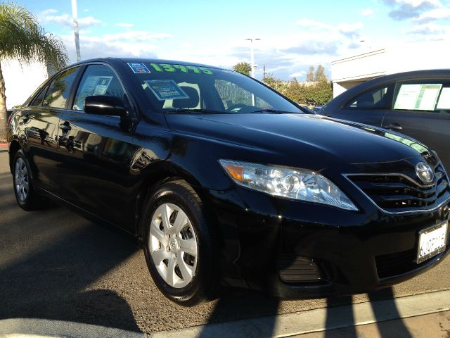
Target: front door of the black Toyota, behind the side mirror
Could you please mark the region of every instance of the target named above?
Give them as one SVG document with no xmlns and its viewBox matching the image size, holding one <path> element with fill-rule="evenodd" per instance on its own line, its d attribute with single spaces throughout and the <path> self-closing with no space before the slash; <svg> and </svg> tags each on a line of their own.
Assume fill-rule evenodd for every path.
<svg viewBox="0 0 450 338">
<path fill-rule="evenodd" d="M 139 147 L 133 144 L 131 132 L 120 127 L 120 117 L 84 113 L 84 99 L 91 95 L 127 100 L 120 78 L 109 65 L 86 67 L 72 109 L 60 123 L 61 194 L 84 211 L 133 231 L 129 173 Z"/>
</svg>

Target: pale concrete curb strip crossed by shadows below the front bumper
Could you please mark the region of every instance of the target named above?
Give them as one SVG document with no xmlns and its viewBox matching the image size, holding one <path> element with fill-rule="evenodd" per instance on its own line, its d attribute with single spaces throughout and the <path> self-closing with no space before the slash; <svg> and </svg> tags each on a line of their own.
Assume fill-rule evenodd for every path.
<svg viewBox="0 0 450 338">
<path fill-rule="evenodd" d="M 261 338 L 291 337 L 399 318 L 410 318 L 450 310 L 450 290 L 404 296 L 397 299 L 317 308 L 233 322 L 188 327 L 175 331 L 152 332 L 154 338 Z"/>
</svg>

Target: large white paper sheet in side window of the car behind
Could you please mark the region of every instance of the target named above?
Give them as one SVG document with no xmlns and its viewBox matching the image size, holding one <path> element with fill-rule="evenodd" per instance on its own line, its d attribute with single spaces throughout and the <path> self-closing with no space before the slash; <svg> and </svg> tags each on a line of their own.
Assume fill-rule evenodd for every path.
<svg viewBox="0 0 450 338">
<path fill-rule="evenodd" d="M 401 84 L 394 109 L 434 111 L 442 84 Z"/>
</svg>

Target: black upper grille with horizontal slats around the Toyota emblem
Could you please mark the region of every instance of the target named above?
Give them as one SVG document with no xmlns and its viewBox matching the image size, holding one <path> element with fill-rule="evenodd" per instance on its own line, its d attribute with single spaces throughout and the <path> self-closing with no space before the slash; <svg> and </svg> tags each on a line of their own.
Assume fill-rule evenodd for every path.
<svg viewBox="0 0 450 338">
<path fill-rule="evenodd" d="M 440 164 L 435 168 L 435 183 L 430 187 L 399 174 L 350 175 L 349 179 L 377 206 L 390 212 L 431 209 L 450 198 L 449 181 Z"/>
</svg>

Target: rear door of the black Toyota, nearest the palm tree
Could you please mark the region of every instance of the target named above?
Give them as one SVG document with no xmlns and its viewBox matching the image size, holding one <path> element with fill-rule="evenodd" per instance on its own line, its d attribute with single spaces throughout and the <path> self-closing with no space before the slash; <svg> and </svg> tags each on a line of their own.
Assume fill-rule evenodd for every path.
<svg viewBox="0 0 450 338">
<path fill-rule="evenodd" d="M 49 82 L 21 112 L 28 160 L 37 188 L 59 191 L 58 125 L 79 67 L 64 70 Z"/>
</svg>

